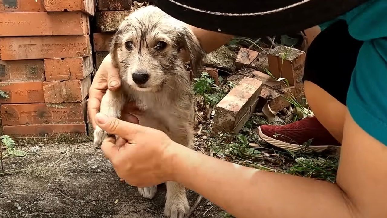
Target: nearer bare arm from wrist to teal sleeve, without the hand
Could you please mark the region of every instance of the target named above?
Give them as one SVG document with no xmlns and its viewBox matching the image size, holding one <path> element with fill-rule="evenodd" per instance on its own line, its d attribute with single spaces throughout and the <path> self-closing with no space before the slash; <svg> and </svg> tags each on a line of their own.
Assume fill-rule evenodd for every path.
<svg viewBox="0 0 387 218">
<path fill-rule="evenodd" d="M 173 149 L 175 180 L 238 218 L 387 217 L 387 147 L 348 112 L 336 184 L 258 171 L 182 146 Z"/>
</svg>

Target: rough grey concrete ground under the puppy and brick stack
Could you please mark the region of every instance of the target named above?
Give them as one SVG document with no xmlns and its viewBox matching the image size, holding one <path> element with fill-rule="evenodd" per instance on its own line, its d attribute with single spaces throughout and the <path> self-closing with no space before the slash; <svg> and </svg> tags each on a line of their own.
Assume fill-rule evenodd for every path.
<svg viewBox="0 0 387 218">
<path fill-rule="evenodd" d="M 32 147 L 21 148 L 31 152 Z M 33 152 L 3 159 L 4 170 L 24 171 L 0 175 L 1 218 L 164 217 L 165 185 L 154 199 L 144 199 L 136 187 L 120 182 L 91 144 L 42 145 Z M 187 196 L 192 206 L 198 195 L 187 191 Z M 190 217 L 223 218 L 225 212 L 212 206 L 203 199 Z"/>
</svg>

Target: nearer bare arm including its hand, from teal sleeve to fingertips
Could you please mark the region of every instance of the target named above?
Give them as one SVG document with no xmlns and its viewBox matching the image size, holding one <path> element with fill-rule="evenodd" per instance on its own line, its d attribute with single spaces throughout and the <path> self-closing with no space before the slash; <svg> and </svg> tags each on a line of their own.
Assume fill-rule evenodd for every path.
<svg viewBox="0 0 387 218">
<path fill-rule="evenodd" d="M 387 147 L 349 114 L 336 184 L 221 161 L 176 144 L 161 131 L 122 120 L 97 119 L 97 124 L 130 143 L 118 146 L 108 139 L 102 149 L 120 178 L 132 185 L 180 182 L 238 218 L 387 217 Z"/>
</svg>

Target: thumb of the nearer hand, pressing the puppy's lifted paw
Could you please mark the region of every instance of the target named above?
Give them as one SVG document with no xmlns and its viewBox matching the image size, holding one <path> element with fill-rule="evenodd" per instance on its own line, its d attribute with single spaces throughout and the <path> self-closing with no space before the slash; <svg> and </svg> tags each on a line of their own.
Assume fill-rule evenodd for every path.
<svg viewBox="0 0 387 218">
<path fill-rule="evenodd" d="M 144 126 L 128 123 L 117 118 L 108 117 L 102 113 L 96 115 L 97 125 L 112 135 L 118 135 L 126 140 L 133 140 L 136 135 L 144 131 Z"/>
</svg>

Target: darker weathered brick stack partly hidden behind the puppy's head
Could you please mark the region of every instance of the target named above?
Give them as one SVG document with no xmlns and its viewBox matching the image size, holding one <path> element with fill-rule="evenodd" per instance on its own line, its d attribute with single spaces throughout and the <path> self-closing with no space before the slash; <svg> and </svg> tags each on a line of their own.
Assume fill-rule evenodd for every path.
<svg viewBox="0 0 387 218">
<path fill-rule="evenodd" d="M 118 30 L 121 22 L 132 11 L 132 0 L 98 0 L 98 13 L 96 13 L 97 30 L 93 34 L 96 67 L 101 65 L 104 57 L 109 54 L 111 37 Z"/>
</svg>

